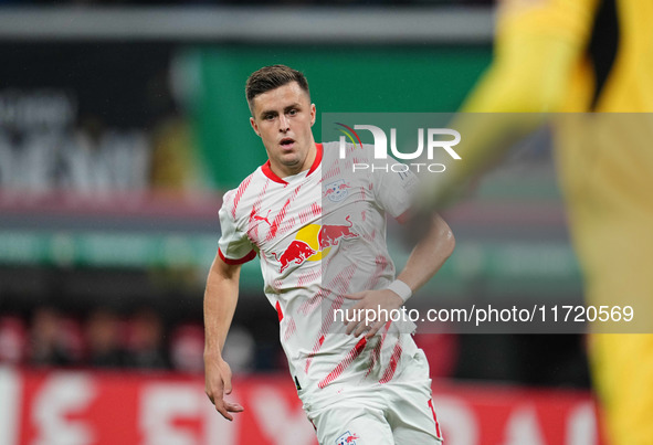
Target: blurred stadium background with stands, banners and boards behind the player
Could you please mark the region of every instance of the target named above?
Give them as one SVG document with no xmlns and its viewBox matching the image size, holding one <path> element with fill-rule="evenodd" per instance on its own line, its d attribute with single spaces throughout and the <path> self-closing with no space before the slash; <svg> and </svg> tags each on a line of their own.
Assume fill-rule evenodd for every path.
<svg viewBox="0 0 653 445">
<path fill-rule="evenodd" d="M 1 1 L 0 445 L 315 444 L 256 262 L 227 349 L 246 411 L 228 424 L 203 394 L 221 195 L 265 159 L 244 81 L 284 63 L 318 115 L 454 112 L 491 61 L 493 11 Z M 413 307 L 581 303 L 546 131 L 446 218 L 456 252 Z M 449 445 L 600 443 L 583 336 L 423 330 Z"/>
</svg>

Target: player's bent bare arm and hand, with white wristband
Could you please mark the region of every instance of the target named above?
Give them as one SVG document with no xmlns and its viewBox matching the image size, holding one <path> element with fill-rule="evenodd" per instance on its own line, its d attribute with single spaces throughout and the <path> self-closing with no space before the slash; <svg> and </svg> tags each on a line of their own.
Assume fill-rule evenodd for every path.
<svg viewBox="0 0 653 445">
<path fill-rule="evenodd" d="M 415 293 L 422 287 L 435 273 L 442 267 L 446 258 L 451 256 L 455 247 L 455 239 L 451 227 L 439 215 L 433 214 L 429 224 L 429 229 L 423 236 L 418 241 L 412 250 L 406 267 L 399 276 L 398 280 L 406 284 L 411 293 Z M 366 290 L 361 293 L 350 294 L 346 296 L 349 299 L 358 300 L 352 307 L 354 314 L 358 309 L 366 312 L 366 309 L 378 310 L 386 309 L 390 312 L 393 309 L 399 309 L 404 300 L 391 289 Z M 356 320 L 346 322 L 347 333 L 354 332 L 356 337 L 360 336 L 367 329 L 369 331 L 366 337 L 369 339 L 373 337 L 379 329 L 387 322 L 386 319 L 379 319 L 369 326 L 366 320 Z"/>
</svg>

